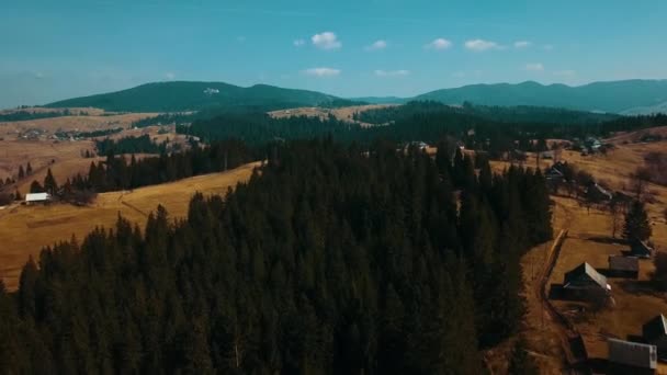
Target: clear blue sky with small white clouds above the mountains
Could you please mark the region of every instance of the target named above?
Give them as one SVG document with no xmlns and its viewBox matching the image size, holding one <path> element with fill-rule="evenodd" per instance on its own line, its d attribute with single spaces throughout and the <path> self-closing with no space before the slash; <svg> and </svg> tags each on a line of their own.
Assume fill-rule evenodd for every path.
<svg viewBox="0 0 667 375">
<path fill-rule="evenodd" d="M 150 81 L 342 96 L 667 78 L 667 1 L 0 2 L 0 107 Z"/>
</svg>

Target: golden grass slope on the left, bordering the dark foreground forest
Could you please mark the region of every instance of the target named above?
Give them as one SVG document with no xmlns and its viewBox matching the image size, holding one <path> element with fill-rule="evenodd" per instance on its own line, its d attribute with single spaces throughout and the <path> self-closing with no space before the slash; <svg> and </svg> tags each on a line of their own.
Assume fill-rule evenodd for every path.
<svg viewBox="0 0 667 375">
<path fill-rule="evenodd" d="M 1 209 L 0 276 L 10 289 L 14 289 L 21 268 L 30 255 L 37 257 L 43 247 L 67 240 L 72 235 L 82 239 L 97 226 L 110 228 L 118 214 L 140 227 L 158 204 L 165 206 L 172 218 L 183 217 L 195 192 L 206 195 L 224 194 L 238 182 L 247 181 L 258 166 L 259 163 L 255 162 L 227 172 L 194 177 L 132 192 L 104 193 L 87 207 L 53 204 L 14 205 Z"/>
</svg>

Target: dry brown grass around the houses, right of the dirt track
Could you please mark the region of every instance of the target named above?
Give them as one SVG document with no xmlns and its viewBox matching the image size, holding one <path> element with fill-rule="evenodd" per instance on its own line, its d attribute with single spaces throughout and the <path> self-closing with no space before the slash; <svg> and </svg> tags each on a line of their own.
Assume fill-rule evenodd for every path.
<svg viewBox="0 0 667 375">
<path fill-rule="evenodd" d="M 556 197 L 559 211 L 556 226 L 568 227 L 561 257 L 554 268 L 550 284 L 562 284 L 565 272 L 583 262 L 596 269 L 608 268 L 608 257 L 620 255 L 629 250 L 626 245 L 611 238 L 611 220 L 604 212 L 591 209 L 587 213 L 570 198 Z M 667 249 L 667 225 L 664 220 L 653 223 L 653 241 L 658 249 Z M 652 260 L 640 261 L 638 280 L 608 279 L 612 288 L 613 306 L 593 311 L 585 303 L 555 300 L 554 305 L 576 323 L 584 336 L 589 357 L 607 357 L 607 338 L 628 340 L 641 336 L 642 325 L 658 314 L 667 314 L 667 296 L 655 292 L 649 283 L 654 271 Z M 584 307 L 584 312 L 577 311 Z"/>
</svg>

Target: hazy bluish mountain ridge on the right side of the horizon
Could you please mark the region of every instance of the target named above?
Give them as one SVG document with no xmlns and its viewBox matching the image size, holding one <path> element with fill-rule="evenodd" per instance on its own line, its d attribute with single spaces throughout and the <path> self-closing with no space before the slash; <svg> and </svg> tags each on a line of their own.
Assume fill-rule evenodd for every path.
<svg viewBox="0 0 667 375">
<path fill-rule="evenodd" d="M 652 113 L 667 103 L 667 80 L 625 80 L 593 82 L 579 87 L 565 84 L 471 84 L 437 90 L 414 98 L 445 104 L 473 102 L 484 105 L 538 105 L 612 113 Z"/>
</svg>

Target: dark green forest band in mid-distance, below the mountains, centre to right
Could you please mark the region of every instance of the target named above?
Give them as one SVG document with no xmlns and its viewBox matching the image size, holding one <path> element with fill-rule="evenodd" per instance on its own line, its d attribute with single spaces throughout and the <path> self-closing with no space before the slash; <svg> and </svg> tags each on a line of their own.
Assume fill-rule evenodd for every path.
<svg viewBox="0 0 667 375">
<path fill-rule="evenodd" d="M 549 112 L 549 111 L 547 111 Z M 265 113 L 225 113 L 212 118 L 194 120 L 191 125 L 177 126 L 177 133 L 197 136 L 204 140 L 238 138 L 251 147 L 285 139 L 309 139 L 330 136 L 346 144 L 372 145 L 377 139 L 395 143 L 427 141 L 437 144 L 443 138 L 456 139 L 468 149 L 488 152 L 499 158 L 519 147 L 522 151 L 545 148 L 544 141 L 533 139 L 574 139 L 587 136 L 607 136 L 612 132 L 658 126 L 665 115 L 618 117 L 590 113 L 574 114 L 563 110 L 559 116 L 529 112 L 515 114 L 508 109 L 493 109 L 488 113 L 456 109 L 433 102 L 412 102 L 399 107 L 362 112 L 383 126 L 361 127 L 317 117 L 272 118 Z M 374 120 L 375 118 L 375 120 Z M 549 120 L 549 121 L 547 121 Z M 451 148 L 453 152 L 453 147 Z"/>
</svg>

